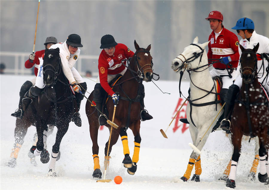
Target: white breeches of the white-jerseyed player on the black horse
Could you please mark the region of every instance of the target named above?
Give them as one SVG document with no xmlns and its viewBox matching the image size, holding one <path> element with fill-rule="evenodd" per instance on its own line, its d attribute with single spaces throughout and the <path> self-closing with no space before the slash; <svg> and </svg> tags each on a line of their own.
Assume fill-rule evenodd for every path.
<svg viewBox="0 0 269 190">
<path fill-rule="evenodd" d="M 80 73 L 77 71 L 77 69 L 75 69 L 75 67 L 71 68 L 71 72 L 75 78 L 75 80 L 78 83 L 83 83 L 83 79 L 80 75 Z M 33 83 L 34 84 L 34 83 Z M 37 86 L 38 88 L 44 88 L 46 85 L 44 84 L 43 81 L 43 61 L 40 61 L 39 67 L 38 67 L 38 72 L 37 72 L 37 76 L 36 76 L 36 81 L 35 81 L 35 86 Z"/>
</svg>

